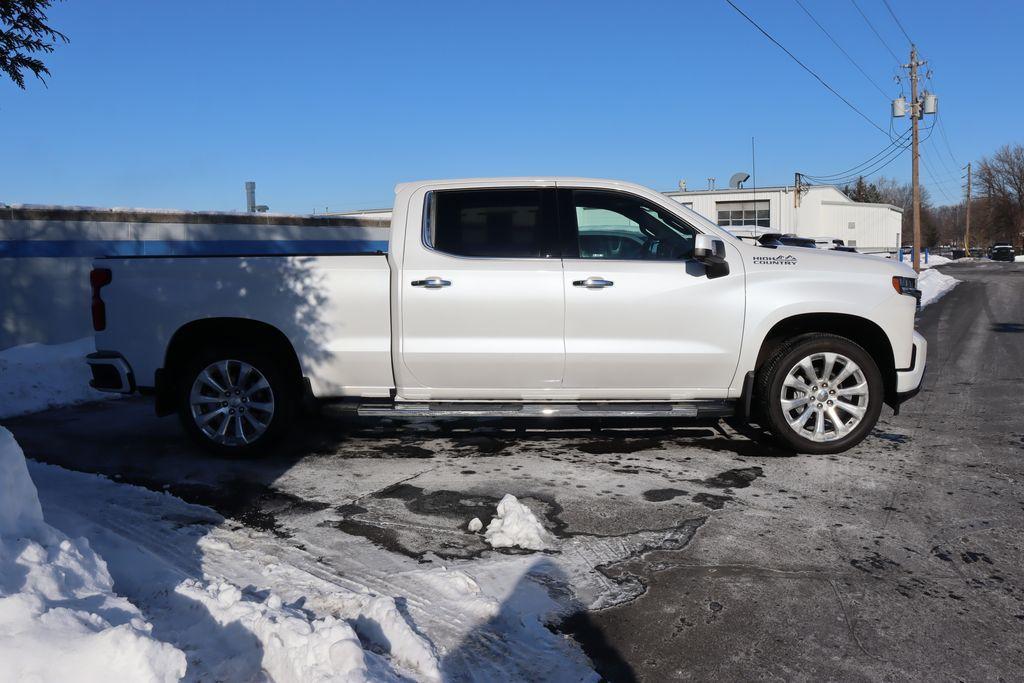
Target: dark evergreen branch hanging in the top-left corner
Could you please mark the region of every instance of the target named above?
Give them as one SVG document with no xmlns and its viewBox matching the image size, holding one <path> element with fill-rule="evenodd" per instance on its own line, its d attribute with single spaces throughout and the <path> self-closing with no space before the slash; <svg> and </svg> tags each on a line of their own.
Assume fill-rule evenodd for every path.
<svg viewBox="0 0 1024 683">
<path fill-rule="evenodd" d="M 25 90 L 25 76 L 32 73 L 43 84 L 50 71 L 38 54 L 53 52 L 68 36 L 51 28 L 46 11 L 53 0 L 0 0 L 0 71 Z"/>
</svg>

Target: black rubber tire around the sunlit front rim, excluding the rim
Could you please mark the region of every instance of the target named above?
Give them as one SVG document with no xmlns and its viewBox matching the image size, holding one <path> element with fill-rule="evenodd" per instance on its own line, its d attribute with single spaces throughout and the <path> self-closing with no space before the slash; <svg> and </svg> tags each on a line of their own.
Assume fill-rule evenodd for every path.
<svg viewBox="0 0 1024 683">
<path fill-rule="evenodd" d="M 866 404 L 863 405 L 864 413 L 859 418 L 859 422 L 850 428 L 848 433 L 842 436 L 839 435 L 839 430 L 833 427 L 831 437 L 828 437 L 827 431 L 825 433 L 825 437 L 829 438 L 829 440 L 814 440 L 813 438 L 804 436 L 802 433 L 798 433 L 795 428 L 790 426 L 782 407 L 783 384 L 791 370 L 794 370 L 802 359 L 818 353 L 838 353 L 846 356 L 859 367 L 867 384 L 867 396 L 863 399 L 866 401 Z M 817 369 L 817 366 L 815 368 Z M 821 369 L 821 372 L 823 372 L 823 369 Z M 849 386 L 849 384 L 846 384 L 849 381 L 844 380 L 844 386 Z M 814 386 L 817 387 L 816 384 Z M 826 390 L 831 389 L 829 387 Z M 836 389 L 839 389 L 839 387 L 836 387 Z M 840 392 L 842 393 L 842 390 Z M 885 385 L 882 380 L 882 373 L 879 370 L 878 364 L 867 351 L 845 337 L 816 333 L 795 337 L 779 346 L 758 372 L 755 399 L 760 419 L 765 423 L 764 426 L 768 427 L 781 446 L 797 453 L 824 455 L 842 453 L 852 449 L 870 433 L 879 420 L 879 415 L 882 413 L 884 394 Z M 811 401 L 811 403 L 823 405 L 824 410 L 827 410 L 827 405 L 833 404 L 827 403 L 827 400 L 828 397 L 826 396 L 822 399 L 821 403 L 815 403 L 815 401 Z M 836 400 L 839 400 L 838 397 Z M 861 399 L 856 398 L 856 400 Z M 854 408 L 859 408 L 859 405 L 854 405 Z M 804 410 L 813 410 L 813 407 L 808 405 Z M 843 416 L 846 416 L 847 419 L 850 417 L 849 414 L 842 410 L 834 414 L 840 415 L 840 422 L 844 421 L 845 418 Z M 790 415 L 793 415 L 793 413 Z M 797 417 L 800 417 L 800 414 Z M 811 418 L 815 422 L 817 421 L 816 415 L 809 416 L 809 420 Z M 830 418 L 826 417 L 822 419 L 822 424 L 827 426 L 833 425 L 833 422 Z"/>
</svg>

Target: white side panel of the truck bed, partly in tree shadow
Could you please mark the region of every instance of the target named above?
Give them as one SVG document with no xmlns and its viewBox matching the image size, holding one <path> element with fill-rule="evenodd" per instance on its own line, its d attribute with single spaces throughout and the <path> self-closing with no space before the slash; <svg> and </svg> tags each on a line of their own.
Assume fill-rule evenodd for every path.
<svg viewBox="0 0 1024 683">
<path fill-rule="evenodd" d="M 314 395 L 390 395 L 384 255 L 108 257 L 95 263 L 112 272 L 103 289 L 108 328 L 97 333 L 96 348 L 121 352 L 139 386 L 154 385 L 164 350 L 184 326 L 246 318 L 288 338 Z"/>
</svg>

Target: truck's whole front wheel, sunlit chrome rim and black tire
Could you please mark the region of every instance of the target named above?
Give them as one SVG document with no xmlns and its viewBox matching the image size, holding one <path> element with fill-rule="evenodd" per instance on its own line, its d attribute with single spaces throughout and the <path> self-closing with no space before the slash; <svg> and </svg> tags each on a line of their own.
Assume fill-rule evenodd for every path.
<svg viewBox="0 0 1024 683">
<path fill-rule="evenodd" d="M 791 340 L 758 377 L 769 429 L 800 453 L 841 453 L 860 443 L 879 420 L 883 394 L 878 364 L 838 335 Z"/>
</svg>

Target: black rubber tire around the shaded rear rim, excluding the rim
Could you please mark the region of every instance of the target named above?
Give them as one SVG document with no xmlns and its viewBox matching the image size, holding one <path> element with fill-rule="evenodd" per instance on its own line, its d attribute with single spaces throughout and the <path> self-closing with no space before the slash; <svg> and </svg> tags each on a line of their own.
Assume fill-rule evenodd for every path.
<svg viewBox="0 0 1024 683">
<path fill-rule="evenodd" d="M 227 442 L 218 442 L 214 440 L 214 437 L 209 436 L 200 427 L 193 410 L 193 386 L 199 378 L 200 374 L 207 370 L 210 366 L 222 364 L 228 364 L 228 373 L 234 374 L 240 372 L 242 366 L 241 364 L 248 364 L 254 368 L 269 385 L 267 389 L 262 390 L 260 393 L 255 394 L 257 398 L 262 401 L 266 401 L 267 397 L 272 400 L 272 413 L 260 413 L 258 414 L 257 421 L 266 421 L 267 426 L 265 430 L 254 436 L 250 433 L 249 440 L 241 440 L 233 438 Z M 181 420 L 181 424 L 184 427 L 185 432 L 203 449 L 220 455 L 228 457 L 246 457 L 260 455 L 264 453 L 267 446 L 272 445 L 281 437 L 283 437 L 292 426 L 292 421 L 295 417 L 296 405 L 298 402 L 298 391 L 296 379 L 289 376 L 289 373 L 284 370 L 282 364 L 278 362 L 273 357 L 264 353 L 258 349 L 245 348 L 245 347 L 209 347 L 203 349 L 199 353 L 190 357 L 186 362 L 183 364 L 181 372 L 179 374 L 179 381 L 175 388 L 176 391 L 176 401 L 178 409 L 178 417 Z M 215 374 L 214 378 L 218 381 L 222 379 L 219 374 Z M 242 378 L 239 378 L 240 384 L 242 383 Z M 219 382 L 223 384 L 223 382 Z M 226 388 L 226 387 L 225 387 Z M 216 392 L 211 391 L 210 393 L 216 394 Z M 227 398 L 228 396 L 224 396 Z M 238 400 L 241 400 L 239 398 Z M 227 402 L 227 401 L 224 401 Z M 234 408 L 234 407 L 229 407 Z M 244 405 L 239 408 L 245 410 Z M 212 409 L 203 410 L 219 410 L 220 405 L 214 404 Z M 226 410 L 226 409 L 225 409 Z M 231 413 L 231 419 L 234 419 L 234 413 Z M 257 415 L 252 413 L 250 409 L 250 415 Z M 226 417 L 226 416 L 225 416 Z M 268 420 L 267 420 L 268 417 Z M 239 422 L 242 422 L 241 416 L 238 418 Z M 219 418 L 214 418 L 214 426 L 220 424 Z M 234 425 L 229 425 L 229 428 Z M 246 422 L 243 426 L 243 432 L 246 428 L 251 428 L 251 423 Z"/>
</svg>

